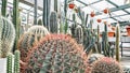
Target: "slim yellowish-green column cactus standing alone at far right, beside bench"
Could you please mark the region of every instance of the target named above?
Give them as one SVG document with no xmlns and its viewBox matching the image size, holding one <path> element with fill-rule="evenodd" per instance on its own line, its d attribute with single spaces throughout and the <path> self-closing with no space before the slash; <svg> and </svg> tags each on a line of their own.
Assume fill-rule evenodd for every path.
<svg viewBox="0 0 130 73">
<path fill-rule="evenodd" d="M 119 27 L 116 27 L 116 60 L 119 62 Z"/>
</svg>

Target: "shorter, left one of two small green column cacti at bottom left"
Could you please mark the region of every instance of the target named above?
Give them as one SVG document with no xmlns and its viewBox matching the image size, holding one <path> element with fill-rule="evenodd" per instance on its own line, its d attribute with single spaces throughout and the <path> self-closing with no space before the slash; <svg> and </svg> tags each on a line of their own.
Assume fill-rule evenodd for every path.
<svg viewBox="0 0 130 73">
<path fill-rule="evenodd" d="M 12 70 L 12 54 L 9 54 L 8 55 L 8 58 L 6 58 L 6 73 L 12 73 L 13 70 Z"/>
</svg>

